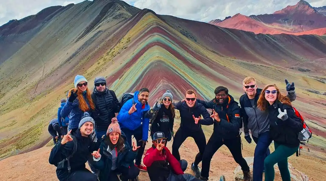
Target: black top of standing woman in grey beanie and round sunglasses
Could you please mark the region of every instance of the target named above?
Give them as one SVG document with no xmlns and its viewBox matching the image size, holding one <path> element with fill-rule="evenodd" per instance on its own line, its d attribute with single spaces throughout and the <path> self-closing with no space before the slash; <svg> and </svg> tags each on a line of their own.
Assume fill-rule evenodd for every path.
<svg viewBox="0 0 326 181">
<path fill-rule="evenodd" d="M 155 132 L 161 131 L 164 133 L 168 141 L 171 140 L 171 131 L 173 131 L 174 118 L 170 109 L 167 109 L 164 105 L 158 111 L 155 111 L 151 114 L 151 110 L 148 110 L 147 113 L 154 119 L 151 126 L 151 137 Z M 164 117 L 163 117 L 164 116 Z"/>
</svg>

